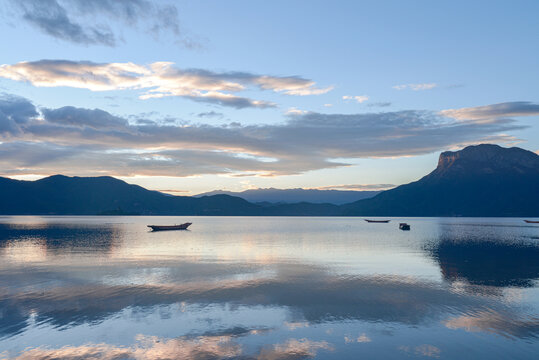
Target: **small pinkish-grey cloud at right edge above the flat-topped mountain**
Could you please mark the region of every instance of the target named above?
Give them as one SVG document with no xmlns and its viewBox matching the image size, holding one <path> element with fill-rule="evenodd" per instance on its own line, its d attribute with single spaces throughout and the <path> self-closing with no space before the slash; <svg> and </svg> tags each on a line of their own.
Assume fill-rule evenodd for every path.
<svg viewBox="0 0 539 360">
<path fill-rule="evenodd" d="M 539 104 L 529 101 L 514 101 L 486 106 L 442 110 L 440 114 L 457 120 L 489 120 L 514 116 L 536 116 L 539 115 Z"/>
</svg>

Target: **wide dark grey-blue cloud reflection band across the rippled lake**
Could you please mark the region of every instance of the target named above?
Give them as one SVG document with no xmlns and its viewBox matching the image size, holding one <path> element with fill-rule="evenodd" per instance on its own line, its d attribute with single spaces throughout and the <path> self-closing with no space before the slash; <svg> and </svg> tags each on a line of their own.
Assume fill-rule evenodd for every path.
<svg viewBox="0 0 539 360">
<path fill-rule="evenodd" d="M 176 273 L 190 266 L 182 264 Z M 206 267 L 207 275 L 212 268 L 216 277 L 220 275 L 220 266 L 206 264 Z M 489 313 L 496 319 L 495 325 L 503 325 L 491 328 L 511 324 L 515 331 L 510 328 L 506 331 L 526 337 L 537 336 L 539 331 L 537 319 L 519 319 L 501 302 L 458 293 L 439 284 L 399 276 L 338 276 L 325 269 L 297 264 L 275 267 L 275 276 L 257 280 L 183 283 L 180 278 L 168 284 L 70 284 L 14 293 L 3 301 L 2 308 L 8 314 L 17 315 L 3 318 L 2 332 L 21 331 L 21 323 L 28 323 L 31 316 L 37 323 L 65 328 L 95 324 L 129 307 L 138 307 L 139 316 L 145 309 L 152 311 L 157 306 L 174 303 L 287 308 L 290 321 L 309 324 L 361 320 L 418 326 L 441 321 L 452 312 L 474 314 L 473 319 L 484 319 Z M 449 324 L 452 328 L 462 327 L 457 324 L 463 321 L 450 320 Z"/>
</svg>

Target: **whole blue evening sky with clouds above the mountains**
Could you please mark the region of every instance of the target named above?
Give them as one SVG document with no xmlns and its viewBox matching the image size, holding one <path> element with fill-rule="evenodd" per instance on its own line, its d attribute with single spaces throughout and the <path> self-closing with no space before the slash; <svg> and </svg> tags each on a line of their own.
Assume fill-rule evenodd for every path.
<svg viewBox="0 0 539 360">
<path fill-rule="evenodd" d="M 539 151 L 535 0 L 0 5 L 0 176 L 373 190 Z"/>
</svg>

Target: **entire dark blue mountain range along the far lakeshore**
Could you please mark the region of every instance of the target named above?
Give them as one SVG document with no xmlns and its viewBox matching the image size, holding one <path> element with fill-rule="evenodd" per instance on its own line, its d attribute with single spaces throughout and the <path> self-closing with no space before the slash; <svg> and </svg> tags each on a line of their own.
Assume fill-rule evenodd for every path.
<svg viewBox="0 0 539 360">
<path fill-rule="evenodd" d="M 490 144 L 444 152 L 436 169 L 420 180 L 370 198 L 351 197 L 342 205 L 255 204 L 227 194 L 170 196 L 112 177 L 63 175 L 0 178 L 0 198 L 3 215 L 531 217 L 539 216 L 539 155 Z"/>
</svg>

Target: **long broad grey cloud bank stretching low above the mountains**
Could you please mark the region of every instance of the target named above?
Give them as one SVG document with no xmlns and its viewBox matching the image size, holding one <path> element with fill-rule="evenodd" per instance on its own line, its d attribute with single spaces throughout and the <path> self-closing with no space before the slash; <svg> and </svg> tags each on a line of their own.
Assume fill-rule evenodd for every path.
<svg viewBox="0 0 539 360">
<path fill-rule="evenodd" d="M 413 110 L 309 112 L 258 125 L 129 123 L 100 109 L 37 109 L 13 96 L 0 98 L 0 114 L 0 171 L 12 175 L 301 174 L 348 165 L 343 159 L 511 141 L 508 132 L 525 128 L 506 118 L 462 122 Z"/>
</svg>

